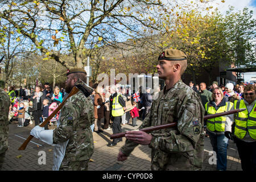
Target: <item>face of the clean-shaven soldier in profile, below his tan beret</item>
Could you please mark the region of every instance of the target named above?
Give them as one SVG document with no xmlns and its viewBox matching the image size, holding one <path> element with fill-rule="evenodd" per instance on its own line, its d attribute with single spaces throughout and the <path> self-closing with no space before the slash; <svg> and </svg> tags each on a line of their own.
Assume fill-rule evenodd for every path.
<svg viewBox="0 0 256 182">
<path fill-rule="evenodd" d="M 169 77 L 172 77 L 174 73 L 172 67 L 174 66 L 171 64 L 171 61 L 159 60 L 158 65 L 156 65 L 159 78 L 167 79 Z"/>
</svg>

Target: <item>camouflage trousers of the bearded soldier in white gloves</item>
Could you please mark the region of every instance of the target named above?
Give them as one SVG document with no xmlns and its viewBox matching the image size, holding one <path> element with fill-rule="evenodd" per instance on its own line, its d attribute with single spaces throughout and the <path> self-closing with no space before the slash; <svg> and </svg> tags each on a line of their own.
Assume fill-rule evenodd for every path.
<svg viewBox="0 0 256 182">
<path fill-rule="evenodd" d="M 60 164 L 59 171 L 87 171 L 88 170 L 88 160 L 81 161 L 68 161 L 67 159 L 63 159 Z"/>
</svg>

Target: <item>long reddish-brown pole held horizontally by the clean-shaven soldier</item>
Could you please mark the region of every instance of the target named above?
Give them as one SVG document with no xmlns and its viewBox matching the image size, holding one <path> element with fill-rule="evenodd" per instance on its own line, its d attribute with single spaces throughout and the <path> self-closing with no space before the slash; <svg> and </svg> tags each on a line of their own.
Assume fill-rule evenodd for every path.
<svg viewBox="0 0 256 182">
<path fill-rule="evenodd" d="M 221 117 L 223 115 L 238 113 L 243 110 L 246 110 L 246 109 L 234 109 L 234 110 L 230 110 L 230 111 L 223 112 L 223 113 L 205 115 L 204 120 Z M 168 123 L 165 125 L 145 127 L 144 129 L 140 129 L 139 131 L 150 132 L 150 131 L 154 131 L 154 130 L 166 129 L 167 127 L 174 127 L 176 125 L 177 125 L 177 123 L 174 122 L 174 123 Z M 125 134 L 126 134 L 126 132 L 113 134 L 113 135 L 110 135 L 110 139 L 125 137 Z"/>
</svg>

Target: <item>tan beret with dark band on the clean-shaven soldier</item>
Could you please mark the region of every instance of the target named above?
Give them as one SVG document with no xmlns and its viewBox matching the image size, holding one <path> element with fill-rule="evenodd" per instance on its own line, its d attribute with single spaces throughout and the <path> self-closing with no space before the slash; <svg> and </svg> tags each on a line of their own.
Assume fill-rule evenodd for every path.
<svg viewBox="0 0 256 182">
<path fill-rule="evenodd" d="M 169 60 L 169 61 L 181 61 L 187 60 L 187 56 L 184 52 L 177 49 L 166 49 L 160 54 L 158 60 Z"/>
</svg>

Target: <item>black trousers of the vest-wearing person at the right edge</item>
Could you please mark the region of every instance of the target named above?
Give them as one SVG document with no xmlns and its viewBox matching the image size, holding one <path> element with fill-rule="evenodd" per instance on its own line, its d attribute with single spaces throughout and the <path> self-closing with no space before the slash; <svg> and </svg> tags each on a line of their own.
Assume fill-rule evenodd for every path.
<svg viewBox="0 0 256 182">
<path fill-rule="evenodd" d="M 244 142 L 236 137 L 237 150 L 243 171 L 256 172 L 256 142 Z"/>
</svg>

